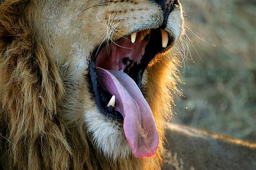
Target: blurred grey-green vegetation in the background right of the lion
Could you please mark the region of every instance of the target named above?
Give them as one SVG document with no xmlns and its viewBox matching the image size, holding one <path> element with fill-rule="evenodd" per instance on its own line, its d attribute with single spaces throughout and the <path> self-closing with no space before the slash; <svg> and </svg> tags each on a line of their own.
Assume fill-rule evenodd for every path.
<svg viewBox="0 0 256 170">
<path fill-rule="evenodd" d="M 181 3 L 190 50 L 172 122 L 256 141 L 256 1 Z"/>
</svg>

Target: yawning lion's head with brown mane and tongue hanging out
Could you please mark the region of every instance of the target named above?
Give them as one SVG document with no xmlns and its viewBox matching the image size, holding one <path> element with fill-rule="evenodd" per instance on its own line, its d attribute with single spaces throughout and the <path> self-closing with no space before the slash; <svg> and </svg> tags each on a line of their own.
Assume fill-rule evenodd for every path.
<svg viewBox="0 0 256 170">
<path fill-rule="evenodd" d="M 178 0 L 0 1 L 2 165 L 159 168 L 182 32 Z"/>
</svg>

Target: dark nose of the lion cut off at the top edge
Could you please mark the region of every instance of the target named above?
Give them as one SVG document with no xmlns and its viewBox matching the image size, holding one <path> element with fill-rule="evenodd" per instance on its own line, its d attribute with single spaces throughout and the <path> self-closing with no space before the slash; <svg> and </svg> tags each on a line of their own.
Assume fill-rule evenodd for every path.
<svg viewBox="0 0 256 170">
<path fill-rule="evenodd" d="M 175 5 L 179 4 L 179 0 L 155 0 L 163 9 L 163 24 L 161 28 L 165 28 L 169 14 L 175 8 Z"/>
</svg>

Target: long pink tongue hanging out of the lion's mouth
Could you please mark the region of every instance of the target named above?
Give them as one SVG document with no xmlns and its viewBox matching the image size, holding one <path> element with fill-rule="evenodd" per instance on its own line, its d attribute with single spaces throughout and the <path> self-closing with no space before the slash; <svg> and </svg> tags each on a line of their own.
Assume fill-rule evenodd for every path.
<svg viewBox="0 0 256 170">
<path fill-rule="evenodd" d="M 101 87 L 116 96 L 116 111 L 124 118 L 126 139 L 134 156 L 154 155 L 158 133 L 152 111 L 133 79 L 122 71 L 96 67 Z"/>
</svg>

